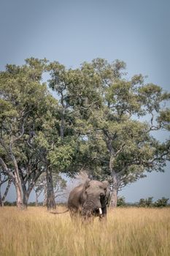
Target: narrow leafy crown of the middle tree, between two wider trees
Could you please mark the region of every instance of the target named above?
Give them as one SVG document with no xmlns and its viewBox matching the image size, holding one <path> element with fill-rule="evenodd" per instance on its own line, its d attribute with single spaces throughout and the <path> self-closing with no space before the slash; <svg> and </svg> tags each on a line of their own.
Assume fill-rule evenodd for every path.
<svg viewBox="0 0 170 256">
<path fill-rule="evenodd" d="M 69 95 L 69 86 L 81 83 L 79 69 L 69 69 L 57 61 L 50 63 L 47 67 L 50 72 L 48 86 L 57 94 L 58 110 L 58 141 L 55 143 L 53 152 L 50 153 L 50 161 L 55 170 L 66 173 L 67 176 L 74 176 L 82 167 L 78 156 L 80 134 L 76 130 L 76 121 L 80 116 L 79 109 L 74 109 L 72 101 L 74 97 Z M 78 94 L 77 89 L 74 91 Z M 78 159 L 77 159 L 78 158 Z"/>
</svg>

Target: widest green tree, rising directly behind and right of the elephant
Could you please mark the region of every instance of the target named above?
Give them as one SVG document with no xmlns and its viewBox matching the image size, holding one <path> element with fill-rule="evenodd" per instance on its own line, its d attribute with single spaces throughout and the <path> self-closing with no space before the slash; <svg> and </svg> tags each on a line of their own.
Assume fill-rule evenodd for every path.
<svg viewBox="0 0 170 256">
<path fill-rule="evenodd" d="M 93 178 L 112 185 L 111 206 L 120 187 L 146 171 L 163 171 L 169 160 L 169 140 L 161 143 L 151 132 L 167 129 L 170 116 L 163 110 L 169 94 L 144 83 L 142 75 L 126 78 L 125 63 L 104 59 L 83 63 L 80 69 L 55 67 L 53 88 L 64 88 L 66 109 L 77 135 L 77 158 Z M 144 120 L 145 121 L 142 121 Z"/>
</svg>

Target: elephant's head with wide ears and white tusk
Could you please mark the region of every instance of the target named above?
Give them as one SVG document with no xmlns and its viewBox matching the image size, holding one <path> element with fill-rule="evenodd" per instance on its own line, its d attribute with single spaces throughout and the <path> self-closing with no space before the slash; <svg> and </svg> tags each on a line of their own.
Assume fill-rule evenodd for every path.
<svg viewBox="0 0 170 256">
<path fill-rule="evenodd" d="M 82 215 L 102 216 L 103 211 L 106 211 L 109 199 L 108 181 L 100 182 L 88 179 L 84 184 L 83 197 L 85 202 L 82 206 Z"/>
</svg>

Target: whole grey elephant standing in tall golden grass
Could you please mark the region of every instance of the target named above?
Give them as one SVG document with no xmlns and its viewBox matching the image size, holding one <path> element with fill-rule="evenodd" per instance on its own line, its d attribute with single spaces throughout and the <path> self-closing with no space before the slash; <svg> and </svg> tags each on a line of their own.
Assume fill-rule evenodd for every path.
<svg viewBox="0 0 170 256">
<path fill-rule="evenodd" d="M 106 219 L 107 203 L 109 200 L 108 181 L 85 181 L 75 187 L 69 194 L 68 208 L 71 217 L 80 215 L 82 217 L 99 217 Z"/>
</svg>

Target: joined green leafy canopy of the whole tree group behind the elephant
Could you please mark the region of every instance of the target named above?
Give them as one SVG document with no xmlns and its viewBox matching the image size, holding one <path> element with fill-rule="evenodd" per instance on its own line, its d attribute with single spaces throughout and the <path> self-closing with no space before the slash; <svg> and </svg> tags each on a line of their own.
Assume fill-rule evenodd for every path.
<svg viewBox="0 0 170 256">
<path fill-rule="evenodd" d="M 85 170 L 109 181 L 115 206 L 118 189 L 164 170 L 169 138 L 159 141 L 152 132 L 169 130 L 170 94 L 141 74 L 128 78 L 125 68 L 119 60 L 66 69 L 31 58 L 0 73 L 0 164 L 18 197 L 28 200 L 43 172 L 51 183 L 53 171 Z M 43 72 L 50 74 L 47 84 Z"/>
</svg>

